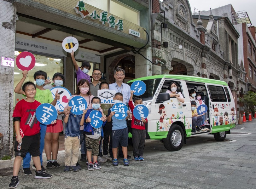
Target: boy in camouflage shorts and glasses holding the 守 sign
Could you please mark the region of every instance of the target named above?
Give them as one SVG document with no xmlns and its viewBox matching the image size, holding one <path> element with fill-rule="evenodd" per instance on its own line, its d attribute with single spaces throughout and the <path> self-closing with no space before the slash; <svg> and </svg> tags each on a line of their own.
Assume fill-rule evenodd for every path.
<svg viewBox="0 0 256 189">
<path fill-rule="evenodd" d="M 99 111 L 101 106 L 101 99 L 97 96 L 91 99 L 91 106 L 93 109 L 88 109 L 87 112 L 83 111 L 83 115 L 80 121 L 80 125 L 84 125 L 84 134 L 85 137 L 85 144 L 86 144 L 86 156 L 88 160 L 88 170 L 92 171 L 93 169 L 101 169 L 101 164 L 97 162 L 98 154 L 99 154 L 99 147 L 100 141 L 103 137 L 103 129 L 102 127 L 105 126 L 106 122 L 102 123 L 100 128 L 94 128 L 90 124 L 91 118 L 89 117 L 90 112 L 93 110 Z M 102 114 L 100 114 L 102 115 Z M 101 117 L 103 120 L 103 117 Z M 84 123 L 85 122 L 85 123 Z M 93 155 L 93 162 L 91 161 L 91 155 Z"/>
</svg>

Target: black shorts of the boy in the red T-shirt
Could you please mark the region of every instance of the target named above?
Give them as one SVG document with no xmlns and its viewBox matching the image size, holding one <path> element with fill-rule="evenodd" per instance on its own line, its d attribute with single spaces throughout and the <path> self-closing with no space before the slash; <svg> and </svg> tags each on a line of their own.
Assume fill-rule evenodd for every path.
<svg viewBox="0 0 256 189">
<path fill-rule="evenodd" d="M 18 143 L 16 140 L 14 152 L 15 157 L 20 156 L 24 158 L 27 152 L 33 157 L 40 156 L 40 132 L 36 135 L 24 136 L 21 143 Z"/>
</svg>

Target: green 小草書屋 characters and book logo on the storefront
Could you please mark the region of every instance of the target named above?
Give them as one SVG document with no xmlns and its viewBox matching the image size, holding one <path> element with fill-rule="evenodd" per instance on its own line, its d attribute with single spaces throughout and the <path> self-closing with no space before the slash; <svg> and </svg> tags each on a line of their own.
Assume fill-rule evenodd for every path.
<svg viewBox="0 0 256 189">
<path fill-rule="evenodd" d="M 113 15 L 108 16 L 107 11 L 103 11 L 99 14 L 96 13 L 96 10 L 92 11 L 92 13 L 89 13 L 88 10 L 86 10 L 85 4 L 83 1 L 78 1 L 76 7 L 73 8 L 77 14 L 80 14 L 82 18 L 85 18 L 86 16 L 90 16 L 92 20 L 99 19 L 102 25 L 105 25 L 108 23 L 108 27 L 114 28 L 117 26 L 117 30 L 123 31 L 123 20 L 116 20 L 116 18 Z M 115 21 L 116 20 L 116 21 Z"/>
</svg>

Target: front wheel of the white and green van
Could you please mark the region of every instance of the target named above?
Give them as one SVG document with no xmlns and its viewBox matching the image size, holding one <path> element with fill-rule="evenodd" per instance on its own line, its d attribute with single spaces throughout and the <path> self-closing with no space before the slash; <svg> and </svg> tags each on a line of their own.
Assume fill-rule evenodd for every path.
<svg viewBox="0 0 256 189">
<path fill-rule="evenodd" d="M 184 131 L 179 125 L 172 125 L 164 140 L 166 150 L 178 151 L 184 143 Z"/>
</svg>

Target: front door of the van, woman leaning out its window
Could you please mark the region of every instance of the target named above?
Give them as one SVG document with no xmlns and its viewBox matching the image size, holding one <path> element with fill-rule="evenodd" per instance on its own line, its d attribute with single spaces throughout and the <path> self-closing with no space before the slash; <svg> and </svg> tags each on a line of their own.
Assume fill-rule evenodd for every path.
<svg viewBox="0 0 256 189">
<path fill-rule="evenodd" d="M 188 100 L 189 94 L 185 81 L 165 79 L 156 95 L 158 96 L 160 93 L 165 93 L 172 82 L 176 83 L 177 92 L 183 95 L 185 102 L 181 103 L 176 97 L 171 97 L 170 100 L 163 102 L 156 100 L 156 135 L 167 135 L 171 125 L 177 121 L 182 122 L 186 128 L 186 125 L 189 124 L 187 117 L 191 118 L 191 104 Z"/>
</svg>

